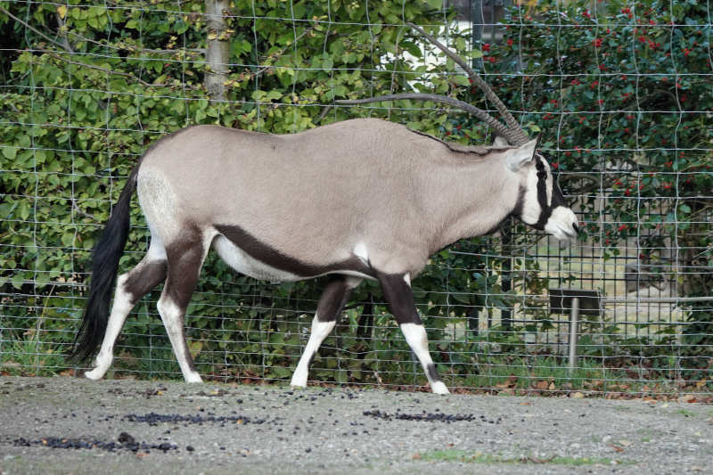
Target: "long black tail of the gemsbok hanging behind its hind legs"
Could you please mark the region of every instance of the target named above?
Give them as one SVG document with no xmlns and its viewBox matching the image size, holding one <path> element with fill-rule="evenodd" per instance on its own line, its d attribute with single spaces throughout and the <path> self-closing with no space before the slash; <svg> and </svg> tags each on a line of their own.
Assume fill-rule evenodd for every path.
<svg viewBox="0 0 713 475">
<path fill-rule="evenodd" d="M 128 177 L 121 191 L 119 201 L 111 211 L 111 217 L 104 228 L 102 237 L 92 254 L 92 280 L 89 283 L 89 297 L 82 324 L 74 338 L 74 348 L 70 358 L 86 360 L 94 354 L 102 342 L 109 321 L 111 290 L 119 270 L 119 258 L 124 254 L 127 243 L 131 195 L 136 189 L 138 166 Z"/>
</svg>

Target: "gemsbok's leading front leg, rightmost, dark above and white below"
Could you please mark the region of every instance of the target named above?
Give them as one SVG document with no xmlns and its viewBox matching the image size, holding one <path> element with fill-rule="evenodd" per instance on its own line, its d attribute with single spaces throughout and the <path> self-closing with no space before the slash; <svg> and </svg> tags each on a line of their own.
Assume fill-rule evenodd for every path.
<svg viewBox="0 0 713 475">
<path fill-rule="evenodd" d="M 446 385 L 436 373 L 436 365 L 430 358 L 426 329 L 423 328 L 421 317 L 416 311 L 409 274 L 379 274 L 378 278 L 391 313 L 401 327 L 408 346 L 423 366 L 423 371 L 429 379 L 430 389 L 436 394 L 449 394 Z"/>
</svg>

